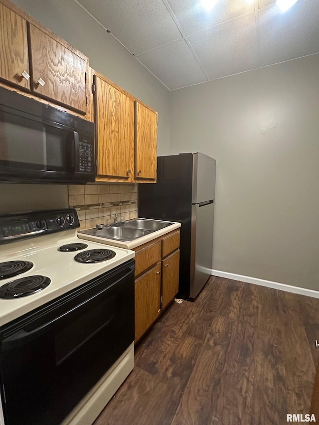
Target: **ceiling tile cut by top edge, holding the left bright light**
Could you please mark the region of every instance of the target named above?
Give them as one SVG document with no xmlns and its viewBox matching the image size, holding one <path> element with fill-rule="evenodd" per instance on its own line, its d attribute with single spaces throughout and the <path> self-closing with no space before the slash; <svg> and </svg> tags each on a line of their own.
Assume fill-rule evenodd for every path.
<svg viewBox="0 0 319 425">
<path fill-rule="evenodd" d="M 249 4 L 245 0 L 219 0 L 210 11 L 207 11 L 199 0 L 167 0 L 167 2 L 186 35 L 254 12 L 254 3 Z"/>
</svg>

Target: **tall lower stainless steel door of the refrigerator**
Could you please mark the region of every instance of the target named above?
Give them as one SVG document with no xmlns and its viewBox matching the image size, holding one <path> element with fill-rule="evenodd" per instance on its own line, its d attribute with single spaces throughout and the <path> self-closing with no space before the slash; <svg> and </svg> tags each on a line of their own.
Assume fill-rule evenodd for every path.
<svg viewBox="0 0 319 425">
<path fill-rule="evenodd" d="M 190 298 L 194 299 L 210 277 L 213 255 L 214 204 L 192 205 Z"/>
</svg>

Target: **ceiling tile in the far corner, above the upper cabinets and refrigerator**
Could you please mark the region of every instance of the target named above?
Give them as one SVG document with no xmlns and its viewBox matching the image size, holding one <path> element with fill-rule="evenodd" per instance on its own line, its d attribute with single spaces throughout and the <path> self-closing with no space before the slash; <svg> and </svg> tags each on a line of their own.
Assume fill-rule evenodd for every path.
<svg viewBox="0 0 319 425">
<path fill-rule="evenodd" d="M 170 90 L 207 81 L 185 40 L 159 47 L 138 59 Z"/>
</svg>

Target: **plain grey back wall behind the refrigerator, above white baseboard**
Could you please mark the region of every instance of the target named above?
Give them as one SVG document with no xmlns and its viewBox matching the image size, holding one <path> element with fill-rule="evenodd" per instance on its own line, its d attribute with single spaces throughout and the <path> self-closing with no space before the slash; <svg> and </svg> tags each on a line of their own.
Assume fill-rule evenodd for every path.
<svg viewBox="0 0 319 425">
<path fill-rule="evenodd" d="M 319 290 L 319 55 L 172 92 L 170 153 L 217 160 L 212 268 Z"/>
</svg>

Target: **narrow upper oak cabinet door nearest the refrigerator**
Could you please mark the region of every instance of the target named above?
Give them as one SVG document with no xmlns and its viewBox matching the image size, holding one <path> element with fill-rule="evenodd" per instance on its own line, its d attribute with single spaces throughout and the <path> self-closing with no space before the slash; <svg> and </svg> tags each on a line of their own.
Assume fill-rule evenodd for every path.
<svg viewBox="0 0 319 425">
<path fill-rule="evenodd" d="M 135 177 L 156 179 L 158 115 L 135 101 Z"/>
</svg>

